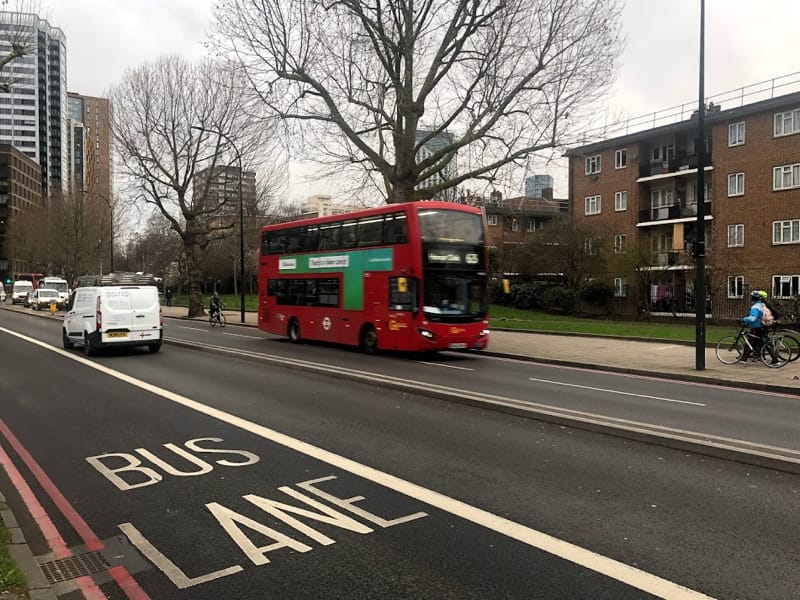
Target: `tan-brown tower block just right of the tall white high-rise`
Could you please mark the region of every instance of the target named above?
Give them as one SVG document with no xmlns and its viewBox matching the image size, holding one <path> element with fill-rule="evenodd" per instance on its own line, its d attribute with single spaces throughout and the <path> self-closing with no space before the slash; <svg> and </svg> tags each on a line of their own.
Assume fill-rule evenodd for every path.
<svg viewBox="0 0 800 600">
<path fill-rule="evenodd" d="M 67 94 L 68 181 L 75 193 L 85 190 L 110 201 L 113 193 L 111 107 L 107 98 Z"/>
</svg>

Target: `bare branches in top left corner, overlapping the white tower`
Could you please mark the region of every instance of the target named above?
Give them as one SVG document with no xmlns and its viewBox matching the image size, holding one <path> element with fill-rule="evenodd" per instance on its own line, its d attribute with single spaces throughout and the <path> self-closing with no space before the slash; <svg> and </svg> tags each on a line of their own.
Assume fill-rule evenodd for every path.
<svg viewBox="0 0 800 600">
<path fill-rule="evenodd" d="M 34 25 L 40 9 L 41 2 L 36 0 L 0 2 L 0 23 L 5 25 L 0 40 L 8 44 L 8 49 L 0 53 L 0 92 L 10 92 L 18 80 L 14 62 L 36 49 L 38 36 Z"/>
</svg>

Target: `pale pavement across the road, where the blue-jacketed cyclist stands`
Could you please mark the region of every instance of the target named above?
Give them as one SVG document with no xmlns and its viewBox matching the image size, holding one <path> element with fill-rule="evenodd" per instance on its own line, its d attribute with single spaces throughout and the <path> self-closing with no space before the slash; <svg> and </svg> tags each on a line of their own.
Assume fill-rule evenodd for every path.
<svg viewBox="0 0 800 600">
<path fill-rule="evenodd" d="M 162 310 L 164 316 L 187 318 L 185 307 L 162 306 Z M 225 310 L 225 316 L 229 325 L 242 325 L 240 311 Z M 257 314 L 245 312 L 244 325 L 256 327 Z M 766 367 L 761 362 L 723 365 L 717 360 L 714 348 L 708 347 L 704 353 L 705 368 L 698 370 L 694 344 L 563 333 L 528 333 L 492 327 L 489 349 L 484 352 L 520 360 L 800 395 L 800 360 L 778 369 Z"/>
</svg>

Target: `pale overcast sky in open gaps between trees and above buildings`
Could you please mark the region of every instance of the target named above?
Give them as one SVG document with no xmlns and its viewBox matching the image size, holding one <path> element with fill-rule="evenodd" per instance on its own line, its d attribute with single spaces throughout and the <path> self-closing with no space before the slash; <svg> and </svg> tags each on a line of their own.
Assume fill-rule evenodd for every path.
<svg viewBox="0 0 800 600">
<path fill-rule="evenodd" d="M 102 96 L 126 67 L 166 53 L 205 54 L 211 0 L 44 3 L 51 25 L 67 37 L 70 91 Z M 699 6 L 700 0 L 627 0 L 627 47 L 610 99 L 612 121 L 696 103 Z M 800 0 L 706 0 L 706 95 L 800 72 L 798 40 Z M 562 173 L 553 175 L 563 181 Z M 566 195 L 562 186 L 556 184 L 558 195 Z M 290 190 L 293 196 L 327 192 L 310 184 Z"/>
</svg>

